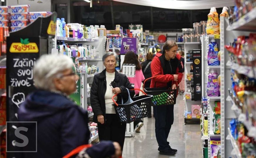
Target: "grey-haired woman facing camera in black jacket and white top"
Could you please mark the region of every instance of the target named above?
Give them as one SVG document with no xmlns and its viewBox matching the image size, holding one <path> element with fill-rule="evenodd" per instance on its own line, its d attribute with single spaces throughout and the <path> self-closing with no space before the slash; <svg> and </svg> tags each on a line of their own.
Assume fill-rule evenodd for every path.
<svg viewBox="0 0 256 158">
<path fill-rule="evenodd" d="M 98 123 L 98 134 L 100 140 L 112 140 L 120 144 L 123 150 L 126 123 L 121 123 L 116 114 L 112 97 L 121 104 L 128 100 L 128 89 L 133 89 L 126 75 L 116 71 L 118 56 L 114 52 L 103 55 L 102 61 L 106 67 L 101 73 L 93 78 L 91 86 L 91 106 L 93 109 L 93 122 Z M 130 97 L 134 96 L 134 90 L 129 90 Z"/>
</svg>

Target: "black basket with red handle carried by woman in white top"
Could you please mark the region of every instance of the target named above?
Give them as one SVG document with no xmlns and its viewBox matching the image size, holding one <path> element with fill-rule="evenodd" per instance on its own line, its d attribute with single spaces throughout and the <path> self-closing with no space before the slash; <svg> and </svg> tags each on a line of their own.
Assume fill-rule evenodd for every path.
<svg viewBox="0 0 256 158">
<path fill-rule="evenodd" d="M 131 90 L 140 90 L 140 89 L 131 89 Z M 140 90 L 143 92 L 143 90 Z M 128 90 L 129 93 L 129 90 Z M 136 121 L 138 119 L 142 119 L 144 117 L 148 117 L 151 115 L 149 113 L 150 108 L 151 108 L 151 99 L 152 95 L 147 95 L 145 92 L 143 92 L 145 95 L 139 96 L 139 97 L 133 97 L 133 102 L 129 104 L 117 104 L 116 101 L 114 100 L 114 97 L 117 96 L 114 95 L 112 97 L 112 100 L 115 104 L 115 111 L 116 114 L 118 115 L 118 118 L 120 122 L 124 123 L 131 123 L 133 121 Z M 130 98 L 130 94 L 128 95 Z M 123 100 L 122 100 L 123 102 Z"/>
</svg>

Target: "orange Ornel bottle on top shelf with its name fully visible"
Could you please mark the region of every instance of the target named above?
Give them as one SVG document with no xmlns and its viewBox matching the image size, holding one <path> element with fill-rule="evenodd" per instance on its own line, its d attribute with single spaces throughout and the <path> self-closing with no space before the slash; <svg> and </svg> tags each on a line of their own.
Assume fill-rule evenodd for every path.
<svg viewBox="0 0 256 158">
<path fill-rule="evenodd" d="M 206 33 L 207 35 L 220 34 L 220 20 L 215 7 L 212 7 L 210 13 L 208 14 Z"/>
</svg>

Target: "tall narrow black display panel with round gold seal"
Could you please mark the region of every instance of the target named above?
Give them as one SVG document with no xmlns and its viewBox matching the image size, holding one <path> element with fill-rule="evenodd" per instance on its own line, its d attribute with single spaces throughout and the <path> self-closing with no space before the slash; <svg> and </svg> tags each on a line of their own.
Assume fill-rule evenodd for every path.
<svg viewBox="0 0 256 158">
<path fill-rule="evenodd" d="M 194 79 L 194 101 L 202 100 L 202 50 L 194 49 L 193 53 L 193 79 Z"/>
</svg>

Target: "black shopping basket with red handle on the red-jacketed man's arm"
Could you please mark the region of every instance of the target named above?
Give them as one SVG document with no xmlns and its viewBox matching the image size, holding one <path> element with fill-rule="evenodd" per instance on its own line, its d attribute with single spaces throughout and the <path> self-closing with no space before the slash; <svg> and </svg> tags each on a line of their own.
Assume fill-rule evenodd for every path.
<svg viewBox="0 0 256 158">
<path fill-rule="evenodd" d="M 144 85 L 147 80 L 150 80 L 157 76 L 160 76 L 160 75 L 156 75 L 144 80 Z M 144 86 L 143 86 L 143 89 L 145 93 L 147 93 L 147 95 L 153 95 L 153 98 L 151 99 L 152 106 L 176 104 L 177 89 L 172 90 L 171 88 L 168 88 L 168 87 L 144 88 Z"/>
</svg>

